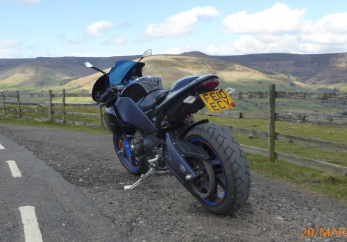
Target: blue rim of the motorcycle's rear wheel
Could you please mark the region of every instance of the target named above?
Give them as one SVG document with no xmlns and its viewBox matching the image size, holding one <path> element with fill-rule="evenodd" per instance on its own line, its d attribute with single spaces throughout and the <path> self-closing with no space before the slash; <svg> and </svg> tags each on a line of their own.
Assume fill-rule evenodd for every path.
<svg viewBox="0 0 347 242">
<path fill-rule="evenodd" d="M 210 152 L 210 156 L 212 154 L 214 155 L 214 157 L 211 158 L 210 162 L 212 164 L 212 167 L 214 168 L 214 171 L 217 171 L 214 174 L 216 176 L 216 182 L 217 184 L 219 184 L 218 185 L 219 189 L 217 189 L 217 193 L 215 193 L 214 196 L 212 196 L 212 198 L 201 198 L 201 199 L 210 205 L 219 205 L 221 202 L 223 202 L 226 196 L 226 175 L 224 173 L 223 166 L 221 165 L 221 160 L 217 156 L 217 153 L 214 152 L 212 147 L 205 141 L 201 139 L 193 139 L 192 141 L 190 141 L 190 143 L 196 144 L 196 145 L 204 145 L 205 148 L 207 146 L 207 148 L 212 151 L 212 153 Z"/>
</svg>

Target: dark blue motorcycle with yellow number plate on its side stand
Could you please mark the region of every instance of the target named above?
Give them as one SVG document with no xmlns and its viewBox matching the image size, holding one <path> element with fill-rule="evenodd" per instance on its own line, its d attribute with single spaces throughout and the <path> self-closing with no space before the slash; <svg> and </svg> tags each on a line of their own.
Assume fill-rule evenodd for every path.
<svg viewBox="0 0 347 242">
<path fill-rule="evenodd" d="M 171 175 L 214 214 L 232 214 L 248 198 L 251 181 L 244 152 L 229 132 L 194 114 L 207 106 L 220 112 L 236 104 L 235 90 L 217 89 L 212 74 L 185 76 L 165 90 L 159 76 L 142 76 L 145 51 L 137 62 L 120 60 L 100 71 L 92 98 L 105 105 L 105 123 L 113 134 L 119 161 L 139 176 L 134 189 L 151 175 Z"/>
</svg>

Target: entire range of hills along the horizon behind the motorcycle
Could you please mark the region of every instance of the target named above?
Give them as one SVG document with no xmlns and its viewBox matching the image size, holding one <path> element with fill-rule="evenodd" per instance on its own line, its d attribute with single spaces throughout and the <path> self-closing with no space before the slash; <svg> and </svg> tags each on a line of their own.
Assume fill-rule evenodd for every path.
<svg viewBox="0 0 347 242">
<path fill-rule="evenodd" d="M 103 58 L 0 59 L 0 89 L 41 92 L 67 89 L 90 92 L 100 74 L 83 67 L 87 60 L 100 69 L 108 69 L 118 60 L 135 60 L 139 55 Z M 201 52 L 181 55 L 152 55 L 145 58 L 144 74 L 162 76 L 168 87 L 189 74 L 217 74 L 223 85 L 241 90 L 266 89 L 275 83 L 278 89 L 347 92 L 347 53 L 294 55 L 269 53 L 212 56 Z M 93 76 L 90 76 L 93 75 Z"/>
</svg>

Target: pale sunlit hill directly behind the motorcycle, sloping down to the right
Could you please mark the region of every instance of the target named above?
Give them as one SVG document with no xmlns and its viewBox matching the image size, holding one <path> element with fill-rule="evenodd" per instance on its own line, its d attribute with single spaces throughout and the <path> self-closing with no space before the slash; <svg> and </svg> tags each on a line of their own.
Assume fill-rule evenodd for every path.
<svg viewBox="0 0 347 242">
<path fill-rule="evenodd" d="M 151 55 L 143 60 L 146 66 L 143 69 L 144 76 L 160 76 L 163 85 L 168 88 L 174 81 L 191 74 L 216 74 L 221 81 L 220 87 L 233 87 L 239 91 L 267 90 L 269 83 L 278 85 L 278 89 L 292 90 L 293 83 L 284 80 L 269 78 L 268 75 L 254 69 L 212 58 L 208 55 L 203 57 L 180 56 L 180 55 Z M 100 73 L 86 76 L 62 85 L 69 92 L 86 92 L 92 89 L 92 85 Z M 282 77 L 285 78 L 285 77 Z M 287 80 L 287 79 L 285 79 Z M 313 91 L 307 85 L 296 83 L 295 89 L 300 91 Z M 52 87 L 50 87 L 52 89 Z M 54 88 L 53 88 L 54 89 Z M 84 90 L 83 90 L 84 89 Z"/>
</svg>

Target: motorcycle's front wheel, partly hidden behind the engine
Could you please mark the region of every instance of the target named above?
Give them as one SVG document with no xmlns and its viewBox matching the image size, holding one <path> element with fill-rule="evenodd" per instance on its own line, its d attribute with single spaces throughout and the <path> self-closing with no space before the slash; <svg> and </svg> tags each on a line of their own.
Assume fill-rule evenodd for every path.
<svg viewBox="0 0 347 242">
<path fill-rule="evenodd" d="M 128 141 L 128 143 L 130 144 L 130 141 Z M 124 168 L 126 168 L 126 171 L 138 176 L 148 171 L 148 162 L 145 159 L 136 157 L 135 155 L 126 155 L 124 142 L 121 139 L 118 139 L 115 135 L 113 136 L 113 144 L 119 161 L 123 164 Z"/>
</svg>

